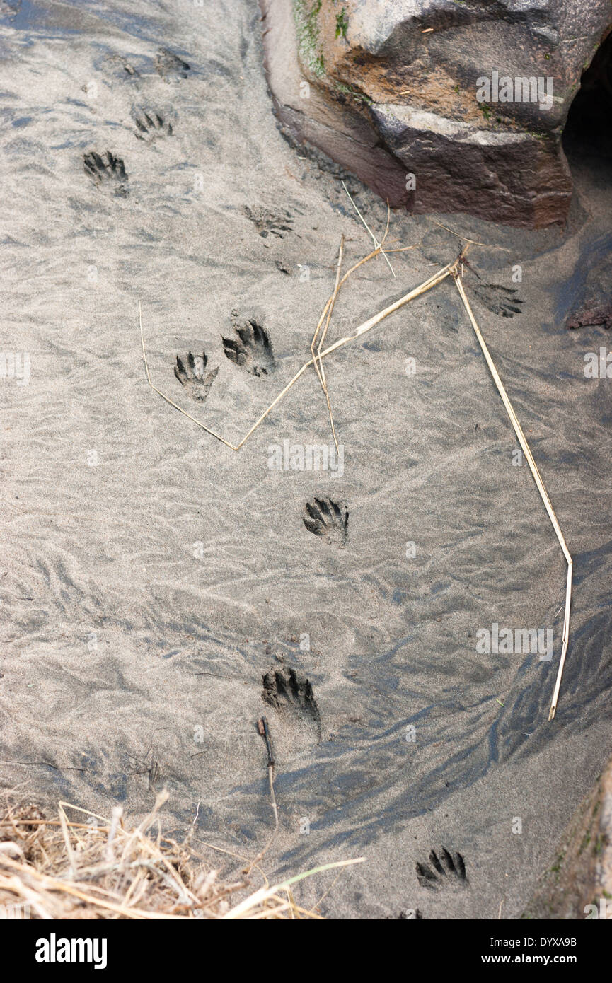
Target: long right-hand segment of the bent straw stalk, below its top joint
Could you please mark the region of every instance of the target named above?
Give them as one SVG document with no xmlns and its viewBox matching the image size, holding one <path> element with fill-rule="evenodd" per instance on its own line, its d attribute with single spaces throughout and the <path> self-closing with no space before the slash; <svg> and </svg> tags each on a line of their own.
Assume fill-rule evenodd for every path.
<svg viewBox="0 0 612 983">
<path fill-rule="evenodd" d="M 506 389 L 504 388 L 504 383 L 502 382 L 502 380 L 501 380 L 501 378 L 500 378 L 500 376 L 498 374 L 498 371 L 495 368 L 495 365 L 493 363 L 493 359 L 491 358 L 491 354 L 489 352 L 489 349 L 487 348 L 486 342 L 485 342 L 484 338 L 482 337 L 482 334 L 480 333 L 480 328 L 478 327 L 478 324 L 476 323 L 476 318 L 474 318 L 473 311 L 472 311 L 472 309 L 471 309 L 471 307 L 469 305 L 469 301 L 467 300 L 467 297 L 465 296 L 465 291 L 463 289 L 463 282 L 462 282 L 461 277 L 459 275 L 459 270 L 456 269 L 453 272 L 453 276 L 455 278 L 455 283 L 457 285 L 457 289 L 459 290 L 459 296 L 460 296 L 460 298 L 461 298 L 461 300 L 463 302 L 463 306 L 464 306 L 464 308 L 465 308 L 465 310 L 467 312 L 467 317 L 471 321 L 471 326 L 473 327 L 474 332 L 475 332 L 475 335 L 476 335 L 476 338 L 478 339 L 478 344 L 480 345 L 480 348 L 482 349 L 482 354 L 484 355 L 484 357 L 486 359 L 486 362 L 487 362 L 487 365 L 489 367 L 489 370 L 491 372 L 491 375 L 493 376 L 493 381 L 495 382 L 495 384 L 497 386 L 497 389 L 498 389 L 498 392 L 499 392 L 500 396 L 502 397 L 502 400 L 504 402 L 504 406 L 506 407 L 506 412 L 508 413 L 508 416 L 510 417 L 510 422 L 511 422 L 511 424 L 513 425 L 513 427 L 515 429 L 515 434 L 517 434 L 517 436 L 519 437 L 520 446 L 522 448 L 522 452 L 523 452 L 524 456 L 527 459 L 527 464 L 529 465 L 529 469 L 530 469 L 531 474 L 533 476 L 533 481 L 535 482 L 535 484 L 537 486 L 537 490 L 540 493 L 540 496 L 542 498 L 542 501 L 544 502 L 544 507 L 545 507 L 546 511 L 548 512 L 548 517 L 549 517 L 549 519 L 550 519 L 550 521 L 551 521 L 551 523 L 553 525 L 553 529 L 555 530 L 555 533 L 557 534 L 557 539 L 559 540 L 559 544 L 561 546 L 561 549 L 563 549 L 563 555 L 565 556 L 565 558 L 567 560 L 567 563 L 568 563 L 568 579 L 567 579 L 567 583 L 566 583 L 565 615 L 564 615 L 564 618 L 563 618 L 563 639 L 562 639 L 562 647 L 561 647 L 561 659 L 559 661 L 559 669 L 557 671 L 557 680 L 555 682 L 555 689 L 554 689 L 554 692 L 553 692 L 552 703 L 550 705 L 550 713 L 548 715 L 548 720 L 549 721 L 552 721 L 552 719 L 555 716 L 556 710 L 557 710 L 557 702 L 559 700 L 559 690 L 561 689 L 561 677 L 563 676 L 563 668 L 564 668 L 564 665 L 565 665 L 565 659 L 566 659 L 566 655 L 567 655 L 567 652 L 568 652 L 568 645 L 570 643 L 570 608 L 572 606 L 572 570 L 573 570 L 572 556 L 570 555 L 570 550 L 567 547 L 567 544 L 566 544 L 564 535 L 561 532 L 561 526 L 559 525 L 559 522 L 557 520 L 557 516 L 555 515 L 555 510 L 554 510 L 554 508 L 552 506 L 552 502 L 551 502 L 550 498 L 548 497 L 548 492 L 546 492 L 546 489 L 544 488 L 544 483 L 543 483 L 543 481 L 541 479 L 541 476 L 540 476 L 539 471 L 537 470 L 537 465 L 536 465 L 535 461 L 533 460 L 533 454 L 531 453 L 531 450 L 529 448 L 529 444 L 527 443 L 527 440 L 526 440 L 525 435 L 522 433 L 522 428 L 520 426 L 520 423 L 519 423 L 519 419 L 517 417 L 517 414 L 515 413 L 514 408 L 513 408 L 513 405 L 511 403 L 510 399 L 508 398 L 508 393 L 506 392 Z"/>
</svg>

